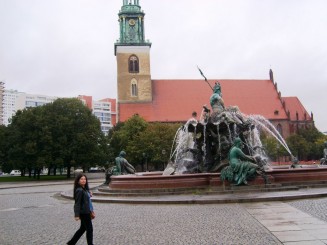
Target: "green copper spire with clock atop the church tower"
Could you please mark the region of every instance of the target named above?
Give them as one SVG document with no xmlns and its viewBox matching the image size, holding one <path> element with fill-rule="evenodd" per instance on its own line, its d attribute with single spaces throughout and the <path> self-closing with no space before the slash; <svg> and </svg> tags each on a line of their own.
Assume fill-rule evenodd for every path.
<svg viewBox="0 0 327 245">
<path fill-rule="evenodd" d="M 120 38 L 116 46 L 151 46 L 144 37 L 144 12 L 141 10 L 139 0 L 123 0 L 123 6 L 118 13 Z"/>
</svg>

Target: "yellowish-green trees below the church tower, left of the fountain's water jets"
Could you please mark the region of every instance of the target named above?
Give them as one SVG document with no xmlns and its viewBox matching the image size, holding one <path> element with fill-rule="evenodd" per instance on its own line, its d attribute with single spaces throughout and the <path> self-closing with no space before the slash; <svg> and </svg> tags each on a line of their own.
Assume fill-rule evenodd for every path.
<svg viewBox="0 0 327 245">
<path fill-rule="evenodd" d="M 127 152 L 128 161 L 144 170 L 145 161 L 151 169 L 162 169 L 169 160 L 170 149 L 180 124 L 147 123 L 134 115 L 124 123 L 117 124 L 109 134 L 110 159 L 121 150 Z"/>
</svg>

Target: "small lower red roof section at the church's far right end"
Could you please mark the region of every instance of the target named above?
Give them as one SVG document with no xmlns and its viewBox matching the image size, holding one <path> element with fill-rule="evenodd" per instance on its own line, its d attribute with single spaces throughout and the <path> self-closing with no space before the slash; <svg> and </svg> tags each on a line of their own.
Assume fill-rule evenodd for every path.
<svg viewBox="0 0 327 245">
<path fill-rule="evenodd" d="M 282 97 L 282 99 L 285 101 L 286 111 L 290 112 L 291 121 L 312 120 L 311 116 L 297 97 Z M 296 118 L 296 113 L 298 113 L 298 119 Z"/>
</svg>

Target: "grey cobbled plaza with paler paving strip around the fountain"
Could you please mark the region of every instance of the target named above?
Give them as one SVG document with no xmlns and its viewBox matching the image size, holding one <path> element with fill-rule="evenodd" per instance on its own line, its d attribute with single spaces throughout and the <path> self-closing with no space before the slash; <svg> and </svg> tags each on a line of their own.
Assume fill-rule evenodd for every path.
<svg viewBox="0 0 327 245">
<path fill-rule="evenodd" d="M 96 180 L 91 187 L 99 185 Z M 72 182 L 0 184 L 0 244 L 66 244 Z M 16 187 L 16 188 L 13 188 Z M 18 188 L 17 188 L 18 187 Z M 94 203 L 94 244 L 327 244 L 327 198 L 242 204 Z M 86 244 L 85 235 L 78 244 Z"/>
</svg>

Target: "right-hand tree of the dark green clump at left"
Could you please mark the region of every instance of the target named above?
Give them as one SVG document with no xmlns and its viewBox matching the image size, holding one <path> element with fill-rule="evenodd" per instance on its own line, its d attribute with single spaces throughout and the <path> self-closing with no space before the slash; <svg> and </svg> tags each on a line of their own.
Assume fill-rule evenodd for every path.
<svg viewBox="0 0 327 245">
<path fill-rule="evenodd" d="M 70 168 L 80 166 L 85 171 L 91 165 L 104 164 L 106 141 L 99 120 L 78 99 L 57 99 L 46 105 L 48 125 L 52 135 L 51 158 Z"/>
</svg>

